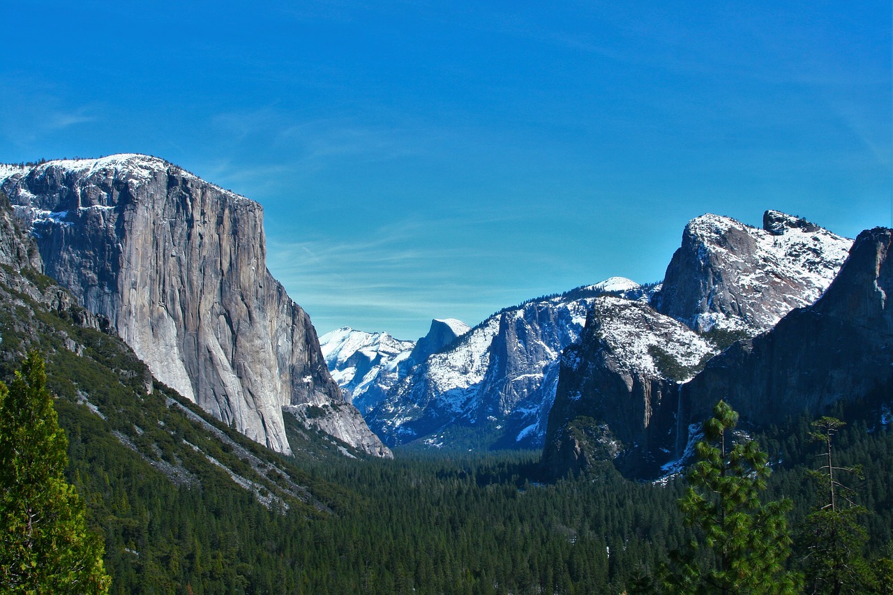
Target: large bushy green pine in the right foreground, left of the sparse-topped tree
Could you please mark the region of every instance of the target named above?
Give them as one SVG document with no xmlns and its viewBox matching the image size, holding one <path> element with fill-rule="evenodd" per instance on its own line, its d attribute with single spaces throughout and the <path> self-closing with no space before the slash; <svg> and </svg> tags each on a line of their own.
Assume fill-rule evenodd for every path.
<svg viewBox="0 0 893 595">
<path fill-rule="evenodd" d="M 671 593 L 794 593 L 797 576 L 785 571 L 791 539 L 790 500 L 762 502 L 770 469 L 755 440 L 732 445 L 738 414 L 720 401 L 704 423 L 697 463 L 679 506 L 698 536 L 676 554 L 661 583 Z"/>
</svg>

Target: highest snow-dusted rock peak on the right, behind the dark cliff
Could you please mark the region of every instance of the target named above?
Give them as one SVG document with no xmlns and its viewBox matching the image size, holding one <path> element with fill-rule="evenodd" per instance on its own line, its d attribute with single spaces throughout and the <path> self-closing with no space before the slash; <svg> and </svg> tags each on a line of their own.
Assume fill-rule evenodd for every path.
<svg viewBox="0 0 893 595">
<path fill-rule="evenodd" d="M 778 211 L 765 212 L 762 230 L 705 214 L 686 225 L 652 305 L 695 331 L 755 335 L 819 298 L 851 245 Z"/>
</svg>

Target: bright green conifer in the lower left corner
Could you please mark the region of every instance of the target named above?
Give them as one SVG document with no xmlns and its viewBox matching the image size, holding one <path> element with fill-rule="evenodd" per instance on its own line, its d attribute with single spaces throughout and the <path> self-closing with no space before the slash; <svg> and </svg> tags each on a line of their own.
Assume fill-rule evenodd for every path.
<svg viewBox="0 0 893 595">
<path fill-rule="evenodd" d="M 32 351 L 0 382 L 0 588 L 12 593 L 104 593 L 103 545 L 65 481 L 68 440 Z"/>
</svg>

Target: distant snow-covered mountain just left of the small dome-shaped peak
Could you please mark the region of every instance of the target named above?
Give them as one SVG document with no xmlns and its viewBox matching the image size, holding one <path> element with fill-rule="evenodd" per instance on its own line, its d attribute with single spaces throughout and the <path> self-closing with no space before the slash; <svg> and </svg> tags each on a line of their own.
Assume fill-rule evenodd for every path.
<svg viewBox="0 0 893 595">
<path fill-rule="evenodd" d="M 394 339 L 387 332 L 350 327 L 320 337 L 332 378 L 362 413 L 378 405 L 396 384 L 414 346 L 413 341 Z"/>
</svg>

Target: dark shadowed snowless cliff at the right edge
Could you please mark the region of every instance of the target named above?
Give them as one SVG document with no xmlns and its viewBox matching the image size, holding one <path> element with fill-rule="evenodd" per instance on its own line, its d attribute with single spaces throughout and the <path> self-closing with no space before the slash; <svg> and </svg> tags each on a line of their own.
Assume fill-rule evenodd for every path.
<svg viewBox="0 0 893 595">
<path fill-rule="evenodd" d="M 893 380 L 893 231 L 866 230 L 813 306 L 785 316 L 772 331 L 736 343 L 683 390 L 680 419 L 705 418 L 725 399 L 752 423 L 808 411 L 821 415 L 839 400 L 886 390 Z"/>
</svg>

